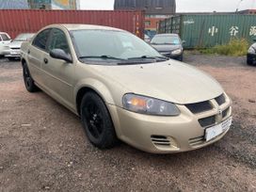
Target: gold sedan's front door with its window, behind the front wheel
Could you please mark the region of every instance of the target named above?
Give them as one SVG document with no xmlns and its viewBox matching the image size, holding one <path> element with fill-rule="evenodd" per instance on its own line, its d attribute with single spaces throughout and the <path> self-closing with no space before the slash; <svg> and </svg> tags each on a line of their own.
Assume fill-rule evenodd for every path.
<svg viewBox="0 0 256 192">
<path fill-rule="evenodd" d="M 70 46 L 64 31 L 53 28 L 48 42 L 49 52 L 53 49 L 62 49 L 67 55 L 71 55 Z M 48 53 L 44 54 L 42 60 L 43 84 L 59 102 L 72 108 L 74 64 L 53 58 Z"/>
</svg>

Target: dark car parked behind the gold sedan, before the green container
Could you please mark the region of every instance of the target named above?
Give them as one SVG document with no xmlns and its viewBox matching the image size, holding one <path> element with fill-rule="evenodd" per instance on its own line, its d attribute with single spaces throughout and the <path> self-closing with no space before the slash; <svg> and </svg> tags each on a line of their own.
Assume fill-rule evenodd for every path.
<svg viewBox="0 0 256 192">
<path fill-rule="evenodd" d="M 158 34 L 152 38 L 152 47 L 163 56 L 180 61 L 184 59 L 183 41 L 177 34 Z"/>
</svg>

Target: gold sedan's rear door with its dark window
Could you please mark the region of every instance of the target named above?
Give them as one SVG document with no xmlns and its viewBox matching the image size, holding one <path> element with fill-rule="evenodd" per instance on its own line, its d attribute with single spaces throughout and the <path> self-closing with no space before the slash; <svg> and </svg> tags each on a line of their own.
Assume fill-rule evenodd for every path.
<svg viewBox="0 0 256 192">
<path fill-rule="evenodd" d="M 32 41 L 32 45 L 27 49 L 29 71 L 33 79 L 40 84 L 41 87 L 44 87 L 44 77 L 42 76 L 41 66 L 43 65 L 43 56 L 48 52 L 47 41 L 49 40 L 50 33 L 51 28 L 42 30 Z"/>
</svg>

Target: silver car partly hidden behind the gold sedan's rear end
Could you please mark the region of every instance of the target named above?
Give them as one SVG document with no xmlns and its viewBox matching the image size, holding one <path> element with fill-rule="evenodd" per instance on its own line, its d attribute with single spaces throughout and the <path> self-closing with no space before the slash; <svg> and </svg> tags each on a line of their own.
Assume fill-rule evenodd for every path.
<svg viewBox="0 0 256 192">
<path fill-rule="evenodd" d="M 22 33 L 18 35 L 14 40 L 8 43 L 5 47 L 5 56 L 8 57 L 9 60 L 14 58 L 20 58 L 21 55 L 21 46 L 24 41 L 30 40 L 35 34 L 34 33 Z"/>
</svg>

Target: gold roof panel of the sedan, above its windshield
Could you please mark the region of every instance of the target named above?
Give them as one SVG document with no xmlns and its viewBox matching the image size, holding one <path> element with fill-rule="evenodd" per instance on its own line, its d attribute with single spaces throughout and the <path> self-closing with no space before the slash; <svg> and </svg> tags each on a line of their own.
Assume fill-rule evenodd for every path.
<svg viewBox="0 0 256 192">
<path fill-rule="evenodd" d="M 124 31 L 119 28 L 114 28 L 110 26 L 103 26 L 103 25 L 94 25 L 94 24 L 52 24 L 47 27 L 55 27 L 55 26 L 63 26 L 67 28 L 69 31 L 72 30 L 83 30 L 83 29 L 90 29 L 90 30 L 109 30 L 109 31 Z"/>
</svg>

